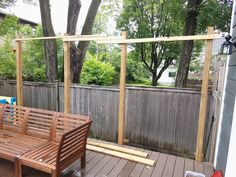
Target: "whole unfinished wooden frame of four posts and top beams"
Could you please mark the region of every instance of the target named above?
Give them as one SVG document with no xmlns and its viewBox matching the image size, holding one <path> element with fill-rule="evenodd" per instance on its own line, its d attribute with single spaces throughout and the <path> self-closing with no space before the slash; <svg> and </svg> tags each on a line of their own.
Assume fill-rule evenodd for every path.
<svg viewBox="0 0 236 177">
<path fill-rule="evenodd" d="M 173 37 L 160 37 L 160 38 L 142 38 L 142 39 L 127 39 L 127 32 L 123 32 L 122 36 L 101 36 L 101 35 L 85 35 L 85 36 L 54 36 L 54 37 L 37 37 L 37 38 L 21 38 L 16 39 L 17 42 L 17 101 L 18 105 L 23 105 L 23 90 L 22 90 L 22 42 L 29 40 L 50 40 L 62 38 L 64 41 L 64 111 L 70 112 L 70 42 L 72 41 L 95 41 L 98 44 L 121 44 L 121 73 L 120 73 L 120 101 L 119 101 L 119 125 L 118 125 L 118 144 L 124 142 L 124 120 L 125 120 L 125 76 L 126 76 L 126 57 L 127 57 L 127 45 L 130 43 L 145 43 L 145 42 L 161 42 L 161 41 L 185 41 L 185 40 L 206 40 L 206 57 L 204 63 L 203 82 L 201 89 L 201 104 L 199 114 L 199 126 L 197 136 L 196 147 L 196 159 L 201 161 L 203 151 L 203 138 L 205 130 L 206 120 L 206 107 L 208 97 L 208 79 L 210 60 L 212 57 L 212 43 L 213 39 L 219 39 L 222 36 L 220 34 L 213 34 L 214 29 L 208 28 L 207 35 L 195 35 L 195 36 L 173 36 Z"/>
</svg>

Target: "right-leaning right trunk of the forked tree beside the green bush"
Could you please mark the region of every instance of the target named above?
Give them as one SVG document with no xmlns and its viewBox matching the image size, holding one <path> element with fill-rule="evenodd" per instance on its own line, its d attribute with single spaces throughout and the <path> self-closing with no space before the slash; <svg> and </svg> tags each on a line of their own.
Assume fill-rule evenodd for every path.
<svg viewBox="0 0 236 177">
<path fill-rule="evenodd" d="M 99 5 L 101 3 L 101 0 L 92 0 L 91 5 L 88 10 L 88 15 L 86 17 L 84 26 L 82 28 L 82 35 L 90 35 L 92 34 L 92 28 L 95 21 L 95 17 L 97 15 L 97 11 L 99 8 Z M 82 71 L 83 63 L 85 54 L 87 52 L 89 42 L 79 42 L 77 46 L 77 50 L 75 50 L 73 53 L 73 70 L 72 70 L 72 81 L 74 83 L 80 83 L 80 74 Z"/>
</svg>

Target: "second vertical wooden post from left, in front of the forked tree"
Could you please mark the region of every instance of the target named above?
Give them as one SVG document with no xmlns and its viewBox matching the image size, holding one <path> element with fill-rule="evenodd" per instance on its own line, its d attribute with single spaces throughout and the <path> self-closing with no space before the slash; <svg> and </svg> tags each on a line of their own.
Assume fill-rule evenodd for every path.
<svg viewBox="0 0 236 177">
<path fill-rule="evenodd" d="M 70 42 L 64 42 L 64 112 L 70 113 Z"/>
</svg>

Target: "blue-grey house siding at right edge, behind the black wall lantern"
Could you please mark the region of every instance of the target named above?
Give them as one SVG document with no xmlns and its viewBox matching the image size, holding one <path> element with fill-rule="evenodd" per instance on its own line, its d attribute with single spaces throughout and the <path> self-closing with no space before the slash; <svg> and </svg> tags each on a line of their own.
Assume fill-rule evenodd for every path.
<svg viewBox="0 0 236 177">
<path fill-rule="evenodd" d="M 234 6 L 236 5 L 234 1 Z M 232 39 L 236 37 L 236 14 L 235 7 L 233 10 L 232 20 Z M 236 95 L 236 52 L 229 57 L 228 69 L 226 76 L 226 86 L 224 93 L 223 113 L 219 125 L 218 146 L 216 150 L 216 169 L 221 169 L 225 172 L 226 162 L 228 157 L 231 126 L 234 112 L 235 95 Z"/>
</svg>

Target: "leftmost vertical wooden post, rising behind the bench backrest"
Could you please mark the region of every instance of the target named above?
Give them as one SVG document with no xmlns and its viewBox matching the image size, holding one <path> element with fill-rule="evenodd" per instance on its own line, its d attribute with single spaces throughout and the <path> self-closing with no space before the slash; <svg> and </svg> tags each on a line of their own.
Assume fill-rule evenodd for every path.
<svg viewBox="0 0 236 177">
<path fill-rule="evenodd" d="M 17 35 L 16 39 L 21 39 L 21 35 Z M 22 41 L 16 41 L 16 94 L 17 105 L 23 106 L 23 86 L 22 86 Z"/>
</svg>

